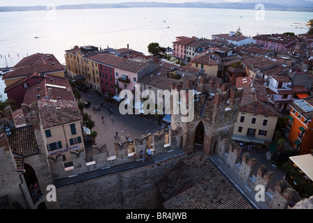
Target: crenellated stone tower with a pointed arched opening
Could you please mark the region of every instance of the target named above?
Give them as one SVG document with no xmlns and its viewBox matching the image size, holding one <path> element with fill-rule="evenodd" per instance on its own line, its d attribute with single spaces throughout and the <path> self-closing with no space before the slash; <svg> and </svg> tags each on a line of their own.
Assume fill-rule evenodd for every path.
<svg viewBox="0 0 313 223">
<path fill-rule="evenodd" d="M 183 150 L 189 153 L 198 148 L 205 155 L 218 153 L 222 156 L 232 140 L 242 89 L 230 87 L 211 76 L 184 79 L 184 82 L 171 84 L 171 89 L 194 90 L 195 93 L 193 121 L 182 122 L 182 114 L 171 114 L 171 128 L 182 128 Z"/>
</svg>

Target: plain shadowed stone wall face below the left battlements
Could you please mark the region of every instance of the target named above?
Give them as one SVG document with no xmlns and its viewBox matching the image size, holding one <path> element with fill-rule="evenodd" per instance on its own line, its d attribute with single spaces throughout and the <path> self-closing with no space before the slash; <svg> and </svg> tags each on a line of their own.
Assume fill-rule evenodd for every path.
<svg viewBox="0 0 313 223">
<path fill-rule="evenodd" d="M 61 208 L 162 208 L 155 183 L 185 155 L 56 189 Z"/>
</svg>

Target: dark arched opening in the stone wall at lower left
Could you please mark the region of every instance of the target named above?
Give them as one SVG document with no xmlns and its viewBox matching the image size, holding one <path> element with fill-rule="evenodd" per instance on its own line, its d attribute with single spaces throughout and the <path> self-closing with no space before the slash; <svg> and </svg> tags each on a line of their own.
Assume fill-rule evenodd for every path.
<svg viewBox="0 0 313 223">
<path fill-rule="evenodd" d="M 33 203 L 35 203 L 35 201 L 39 200 L 42 196 L 38 180 L 33 167 L 31 167 L 29 164 L 24 163 L 24 169 L 24 179 L 26 181 L 27 187 L 29 188 L 29 194 L 31 194 L 31 199 L 33 200 Z"/>
</svg>

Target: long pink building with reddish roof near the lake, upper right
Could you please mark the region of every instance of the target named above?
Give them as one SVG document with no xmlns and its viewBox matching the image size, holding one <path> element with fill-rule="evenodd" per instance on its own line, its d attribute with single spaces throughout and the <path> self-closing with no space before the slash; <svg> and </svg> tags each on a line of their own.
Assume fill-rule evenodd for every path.
<svg viewBox="0 0 313 223">
<path fill-rule="evenodd" d="M 275 49 L 287 52 L 290 45 L 298 42 L 296 36 L 288 36 L 283 34 L 268 34 L 253 37 L 257 41 L 257 45 L 262 45 L 266 49 Z"/>
</svg>

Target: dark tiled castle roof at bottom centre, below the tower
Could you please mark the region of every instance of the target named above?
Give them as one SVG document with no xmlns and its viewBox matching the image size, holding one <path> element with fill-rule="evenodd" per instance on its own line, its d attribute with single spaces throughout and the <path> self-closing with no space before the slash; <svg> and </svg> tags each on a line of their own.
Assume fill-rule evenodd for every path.
<svg viewBox="0 0 313 223">
<path fill-rule="evenodd" d="M 166 209 L 252 209 L 200 153 L 185 157 L 157 187 Z"/>
</svg>

